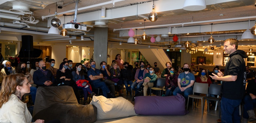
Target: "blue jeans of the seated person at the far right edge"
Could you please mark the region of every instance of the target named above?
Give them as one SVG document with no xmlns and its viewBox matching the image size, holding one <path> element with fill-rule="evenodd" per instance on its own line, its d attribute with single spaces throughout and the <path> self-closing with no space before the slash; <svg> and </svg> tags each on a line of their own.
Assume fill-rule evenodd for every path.
<svg viewBox="0 0 256 123">
<path fill-rule="evenodd" d="M 250 95 L 246 95 L 246 96 L 244 96 L 243 102 L 244 102 L 243 118 L 248 119 L 249 115 L 248 115 L 247 111 L 253 110 L 253 108 L 256 107 L 256 99 L 251 99 Z"/>
</svg>

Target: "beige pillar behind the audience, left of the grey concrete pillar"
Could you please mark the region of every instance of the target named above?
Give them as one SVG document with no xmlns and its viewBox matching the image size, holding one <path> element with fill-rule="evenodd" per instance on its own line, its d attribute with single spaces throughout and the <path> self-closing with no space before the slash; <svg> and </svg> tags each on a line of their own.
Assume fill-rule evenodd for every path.
<svg viewBox="0 0 256 123">
<path fill-rule="evenodd" d="M 63 62 L 63 59 L 66 57 L 66 45 L 52 44 L 52 59 L 55 60 L 55 68 L 58 68 L 59 65 Z"/>
</svg>

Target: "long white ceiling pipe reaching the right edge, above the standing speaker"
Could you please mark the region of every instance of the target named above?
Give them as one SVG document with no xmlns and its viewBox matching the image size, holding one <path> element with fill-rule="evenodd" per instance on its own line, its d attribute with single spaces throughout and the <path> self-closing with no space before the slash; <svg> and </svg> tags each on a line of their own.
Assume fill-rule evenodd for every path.
<svg viewBox="0 0 256 123">
<path fill-rule="evenodd" d="M 162 27 L 162 26 L 177 26 L 177 25 L 182 25 L 183 26 L 185 24 L 198 24 L 198 23 L 218 22 L 218 21 L 232 21 L 232 20 L 241 20 L 241 19 L 249 19 L 249 18 L 256 18 L 256 16 L 238 17 L 238 18 L 226 18 L 226 19 L 207 20 L 207 21 L 194 21 L 194 22 L 185 22 L 185 23 L 176 23 L 176 24 L 154 25 L 154 26 L 145 26 L 145 28 L 155 28 L 155 27 Z M 113 30 L 115 32 L 116 30 L 143 29 L 143 28 L 144 28 L 144 26 L 121 28 L 121 29 L 113 29 Z"/>
</svg>

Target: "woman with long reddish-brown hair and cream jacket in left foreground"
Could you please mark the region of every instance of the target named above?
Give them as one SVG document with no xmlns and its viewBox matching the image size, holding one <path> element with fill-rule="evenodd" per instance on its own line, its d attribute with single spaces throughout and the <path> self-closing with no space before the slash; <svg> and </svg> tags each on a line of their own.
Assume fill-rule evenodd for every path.
<svg viewBox="0 0 256 123">
<path fill-rule="evenodd" d="M 0 91 L 0 122 L 1 123 L 31 123 L 32 116 L 27 109 L 27 104 L 20 99 L 26 93 L 30 93 L 30 83 L 23 74 L 6 76 L 2 82 Z M 36 123 L 44 123 L 44 120 L 36 120 Z M 47 123 L 60 123 L 52 120 Z"/>
</svg>

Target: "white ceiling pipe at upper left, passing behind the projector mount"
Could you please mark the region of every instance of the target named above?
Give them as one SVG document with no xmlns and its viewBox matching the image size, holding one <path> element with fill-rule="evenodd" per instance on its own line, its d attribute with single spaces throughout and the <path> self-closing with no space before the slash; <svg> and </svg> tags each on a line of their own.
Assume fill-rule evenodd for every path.
<svg viewBox="0 0 256 123">
<path fill-rule="evenodd" d="M 91 6 L 81 7 L 81 8 L 78 8 L 77 10 L 80 11 L 80 10 L 84 10 L 84 9 L 89 9 L 89 8 L 93 8 L 93 7 L 98 7 L 98 6 L 103 6 L 103 5 L 111 4 L 111 3 L 113 4 L 113 6 L 115 6 L 115 3 L 116 2 L 120 2 L 120 1 L 125 1 L 125 0 L 112 0 L 112 1 L 103 2 L 103 3 L 91 5 Z M 73 9 L 73 10 L 69 10 L 69 11 L 64 11 L 64 12 L 58 13 L 58 15 L 66 14 L 66 13 L 71 13 L 71 12 L 74 12 L 74 11 L 76 11 L 76 10 Z M 55 14 L 51 14 L 51 15 L 48 15 L 48 16 L 42 16 L 42 19 L 44 20 L 45 18 L 53 17 L 53 16 L 55 16 Z"/>
</svg>

